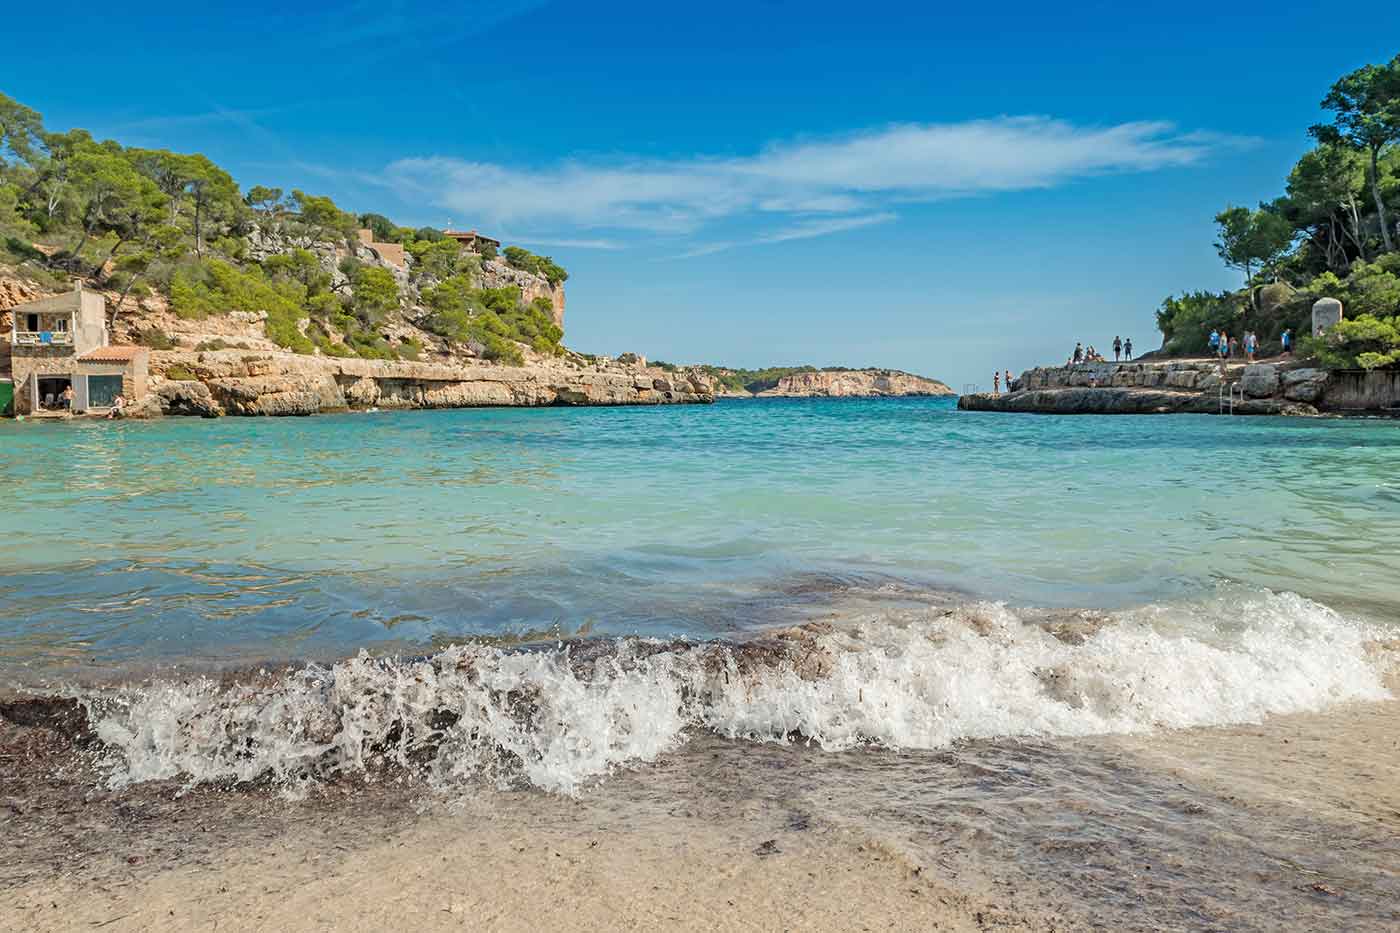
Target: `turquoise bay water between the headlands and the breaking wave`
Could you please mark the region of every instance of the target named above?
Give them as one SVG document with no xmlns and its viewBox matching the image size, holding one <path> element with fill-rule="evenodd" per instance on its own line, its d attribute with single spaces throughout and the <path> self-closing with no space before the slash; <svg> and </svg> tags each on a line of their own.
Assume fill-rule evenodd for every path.
<svg viewBox="0 0 1400 933">
<path fill-rule="evenodd" d="M 1400 423 L 946 399 L 0 422 L 0 677 L 734 636 L 844 587 L 1400 616 Z"/>
</svg>

